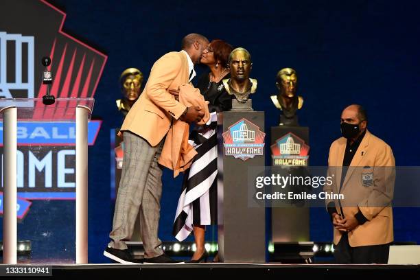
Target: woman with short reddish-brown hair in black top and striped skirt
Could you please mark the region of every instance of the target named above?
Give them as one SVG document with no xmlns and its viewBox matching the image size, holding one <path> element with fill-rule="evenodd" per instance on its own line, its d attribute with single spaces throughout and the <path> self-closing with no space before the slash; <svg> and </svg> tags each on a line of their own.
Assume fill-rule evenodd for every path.
<svg viewBox="0 0 420 280">
<path fill-rule="evenodd" d="M 205 126 L 189 135 L 189 143 L 198 153 L 184 176 L 183 188 L 178 200 L 173 234 L 183 241 L 194 231 L 196 252 L 190 262 L 206 261 L 205 226 L 217 224 L 217 117 L 216 113 L 230 110 L 232 95 L 224 89 L 222 80 L 230 78 L 228 58 L 232 46 L 222 40 L 212 40 L 203 52 L 200 62 L 209 72 L 198 80 L 200 93 L 209 101 L 211 116 Z"/>
</svg>

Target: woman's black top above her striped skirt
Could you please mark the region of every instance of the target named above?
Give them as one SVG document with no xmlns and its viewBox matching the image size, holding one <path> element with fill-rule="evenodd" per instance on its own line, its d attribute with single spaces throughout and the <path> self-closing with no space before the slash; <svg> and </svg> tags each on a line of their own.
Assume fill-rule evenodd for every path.
<svg viewBox="0 0 420 280">
<path fill-rule="evenodd" d="M 200 93 L 204 95 L 205 100 L 209 101 L 209 111 L 231 110 L 234 95 L 229 95 L 223 86 L 223 80 L 231 78 L 231 73 L 227 73 L 220 82 L 210 82 L 209 73 L 210 71 L 206 71 L 200 75 L 197 83 Z"/>
</svg>

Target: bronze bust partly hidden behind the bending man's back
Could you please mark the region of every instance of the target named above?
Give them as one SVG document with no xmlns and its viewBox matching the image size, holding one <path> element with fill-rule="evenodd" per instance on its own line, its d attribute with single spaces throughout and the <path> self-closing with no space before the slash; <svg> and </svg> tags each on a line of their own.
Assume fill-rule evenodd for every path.
<svg viewBox="0 0 420 280">
<path fill-rule="evenodd" d="M 118 110 L 126 117 L 131 106 L 135 104 L 140 95 L 143 73 L 137 68 L 128 68 L 121 73 L 119 84 L 124 97 L 116 100 Z"/>
</svg>

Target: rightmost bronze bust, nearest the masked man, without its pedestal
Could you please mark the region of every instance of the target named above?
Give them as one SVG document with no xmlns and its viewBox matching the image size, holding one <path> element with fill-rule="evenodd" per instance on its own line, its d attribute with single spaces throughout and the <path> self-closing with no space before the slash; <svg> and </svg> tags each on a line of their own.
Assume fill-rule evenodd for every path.
<svg viewBox="0 0 420 280">
<path fill-rule="evenodd" d="M 277 95 L 271 95 L 275 106 L 282 111 L 280 126 L 299 126 L 296 111 L 302 108 L 303 98 L 296 95 L 297 75 L 292 68 L 283 68 L 277 73 Z"/>
</svg>

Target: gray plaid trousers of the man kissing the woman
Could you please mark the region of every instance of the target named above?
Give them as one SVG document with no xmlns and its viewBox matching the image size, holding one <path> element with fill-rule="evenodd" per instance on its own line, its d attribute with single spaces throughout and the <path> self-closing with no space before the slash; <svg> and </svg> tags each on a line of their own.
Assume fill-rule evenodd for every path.
<svg viewBox="0 0 420 280">
<path fill-rule="evenodd" d="M 124 159 L 119 181 L 113 221 L 112 240 L 108 246 L 126 249 L 137 214 L 140 213 L 140 234 L 145 257 L 163 254 L 158 238 L 162 195 L 162 169 L 158 165 L 163 143 L 152 147 L 145 139 L 124 131 Z M 140 211 L 140 212 L 139 212 Z"/>
</svg>

